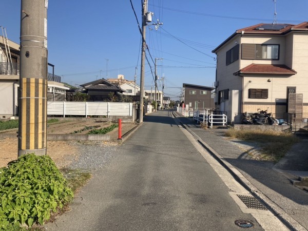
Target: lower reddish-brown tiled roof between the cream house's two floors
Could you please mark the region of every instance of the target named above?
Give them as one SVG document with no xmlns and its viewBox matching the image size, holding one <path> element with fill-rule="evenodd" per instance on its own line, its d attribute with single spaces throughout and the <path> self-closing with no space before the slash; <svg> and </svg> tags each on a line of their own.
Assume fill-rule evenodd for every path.
<svg viewBox="0 0 308 231">
<path fill-rule="evenodd" d="M 241 74 L 282 74 L 293 75 L 297 72 L 285 65 L 276 64 L 251 64 L 241 70 L 233 73 L 234 75 Z"/>
</svg>

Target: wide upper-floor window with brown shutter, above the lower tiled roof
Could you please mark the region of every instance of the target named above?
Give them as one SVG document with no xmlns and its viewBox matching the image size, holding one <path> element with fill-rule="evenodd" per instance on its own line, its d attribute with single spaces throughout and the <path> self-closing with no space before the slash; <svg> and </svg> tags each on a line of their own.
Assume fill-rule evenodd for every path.
<svg viewBox="0 0 308 231">
<path fill-rule="evenodd" d="M 243 60 L 279 60 L 279 45 L 242 44 Z"/>
</svg>

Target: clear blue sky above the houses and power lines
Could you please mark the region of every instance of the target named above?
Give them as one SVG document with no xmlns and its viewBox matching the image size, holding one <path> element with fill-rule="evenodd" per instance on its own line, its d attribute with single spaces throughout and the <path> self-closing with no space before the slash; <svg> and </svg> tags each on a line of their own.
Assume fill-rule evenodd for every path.
<svg viewBox="0 0 308 231">
<path fill-rule="evenodd" d="M 132 4 L 141 25 L 141 1 Z M 274 6 L 273 0 L 148 0 L 153 20 L 163 25 L 147 27 L 147 57 L 153 72 L 152 59 L 163 58 L 157 70 L 160 78 L 164 76 L 165 96 L 178 100 L 183 83 L 213 86 L 216 62 L 211 50 L 237 29 L 272 23 Z M 0 12 L 0 25 L 16 43 L 20 43 L 20 8 L 21 1 L 3 1 Z M 307 9 L 308 0 L 277 0 L 277 21 L 308 21 Z M 133 80 L 137 67 L 139 85 L 140 38 L 129 0 L 49 0 L 48 62 L 63 82 L 81 85 L 106 79 L 107 69 L 108 78 L 124 74 Z M 147 64 L 148 90 L 154 85 L 150 70 Z M 158 87 L 162 89 L 161 80 Z"/>
</svg>

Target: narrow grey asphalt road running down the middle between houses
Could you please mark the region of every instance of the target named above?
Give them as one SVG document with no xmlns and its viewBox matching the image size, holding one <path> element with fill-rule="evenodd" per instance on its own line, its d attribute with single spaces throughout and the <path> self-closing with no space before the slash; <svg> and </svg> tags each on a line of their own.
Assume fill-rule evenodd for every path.
<svg viewBox="0 0 308 231">
<path fill-rule="evenodd" d="M 266 229 L 262 222 L 270 216 L 243 213 L 229 194 L 237 183 L 214 170 L 215 163 L 202 156 L 209 154 L 183 130 L 170 111 L 147 115 L 113 160 L 94 172 L 71 211 L 46 224 L 47 230 L 242 229 L 236 220 Z"/>
</svg>

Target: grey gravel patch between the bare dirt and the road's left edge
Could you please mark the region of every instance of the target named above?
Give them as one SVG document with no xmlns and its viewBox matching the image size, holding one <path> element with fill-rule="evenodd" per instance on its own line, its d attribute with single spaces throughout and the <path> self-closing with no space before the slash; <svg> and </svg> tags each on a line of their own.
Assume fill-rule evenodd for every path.
<svg viewBox="0 0 308 231">
<path fill-rule="evenodd" d="M 68 168 L 93 171 L 105 167 L 115 156 L 119 144 L 115 142 L 86 141 L 76 142 L 79 157 L 71 160 Z"/>
</svg>

